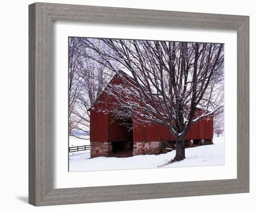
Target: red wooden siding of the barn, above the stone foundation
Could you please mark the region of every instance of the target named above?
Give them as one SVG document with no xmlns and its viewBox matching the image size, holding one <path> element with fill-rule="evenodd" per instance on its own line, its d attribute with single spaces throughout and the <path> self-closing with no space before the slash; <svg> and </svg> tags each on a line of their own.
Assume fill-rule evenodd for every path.
<svg viewBox="0 0 256 209">
<path fill-rule="evenodd" d="M 129 78 L 130 79 L 130 78 Z M 121 84 L 121 78 L 114 77 L 111 80 L 113 85 Z M 123 98 L 125 99 L 125 98 Z M 129 141 L 133 134 L 133 141 L 170 141 L 175 140 L 166 127 L 157 124 L 136 125 L 133 122 L 133 131 L 128 132 L 125 127 L 117 122 L 111 123 L 108 114 L 99 110 L 111 110 L 116 107 L 113 103 L 118 103 L 116 98 L 102 92 L 90 110 L 90 141 L 92 142 L 112 142 Z M 197 108 L 196 113 L 200 113 Z M 197 117 L 197 116 L 195 116 Z M 192 124 L 185 139 L 212 139 L 213 138 L 213 117 L 203 118 Z"/>
</svg>

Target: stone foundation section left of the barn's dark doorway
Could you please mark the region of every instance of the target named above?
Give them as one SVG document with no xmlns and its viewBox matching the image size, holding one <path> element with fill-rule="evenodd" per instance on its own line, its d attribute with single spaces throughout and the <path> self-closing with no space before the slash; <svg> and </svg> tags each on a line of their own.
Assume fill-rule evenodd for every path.
<svg viewBox="0 0 256 209">
<path fill-rule="evenodd" d="M 91 157 L 103 157 L 112 155 L 111 142 L 91 142 Z"/>
</svg>

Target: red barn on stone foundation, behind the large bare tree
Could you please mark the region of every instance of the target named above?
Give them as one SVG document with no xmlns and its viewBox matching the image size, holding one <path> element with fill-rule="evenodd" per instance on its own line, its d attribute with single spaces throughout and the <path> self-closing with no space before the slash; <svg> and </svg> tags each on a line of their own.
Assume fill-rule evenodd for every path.
<svg viewBox="0 0 256 209">
<path fill-rule="evenodd" d="M 131 79 L 131 78 L 129 78 Z M 123 80 L 115 75 L 111 85 L 120 85 Z M 168 129 L 158 124 L 135 125 L 128 119 L 132 129 L 112 120 L 109 110 L 115 103 L 115 97 L 103 91 L 90 108 L 91 157 L 133 156 L 141 154 L 160 154 L 163 148 L 175 148 L 175 137 Z M 200 111 L 197 109 L 196 111 Z M 185 145 L 212 144 L 213 117 L 202 118 L 192 124 L 185 137 Z"/>
</svg>

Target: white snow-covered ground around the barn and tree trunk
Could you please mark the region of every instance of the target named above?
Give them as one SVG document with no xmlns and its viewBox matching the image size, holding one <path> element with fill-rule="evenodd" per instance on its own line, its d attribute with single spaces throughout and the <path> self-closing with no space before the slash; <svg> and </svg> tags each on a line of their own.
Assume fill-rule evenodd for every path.
<svg viewBox="0 0 256 209">
<path fill-rule="evenodd" d="M 72 143 L 75 144 L 75 139 L 73 141 L 70 142 L 70 145 Z M 89 143 L 88 140 L 85 141 Z M 69 171 L 223 165 L 224 137 L 214 137 L 213 142 L 214 144 L 211 145 L 187 148 L 185 150 L 186 159 L 175 163 L 168 163 L 175 157 L 175 150 L 166 154 L 139 155 L 133 157 L 90 158 L 90 150 L 69 153 Z"/>
</svg>

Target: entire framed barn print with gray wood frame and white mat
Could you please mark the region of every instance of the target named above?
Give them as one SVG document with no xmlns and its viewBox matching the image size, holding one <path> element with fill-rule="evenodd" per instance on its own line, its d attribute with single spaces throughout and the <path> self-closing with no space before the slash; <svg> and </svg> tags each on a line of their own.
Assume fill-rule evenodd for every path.
<svg viewBox="0 0 256 209">
<path fill-rule="evenodd" d="M 243 192 L 248 16 L 29 5 L 30 204 Z"/>
</svg>

